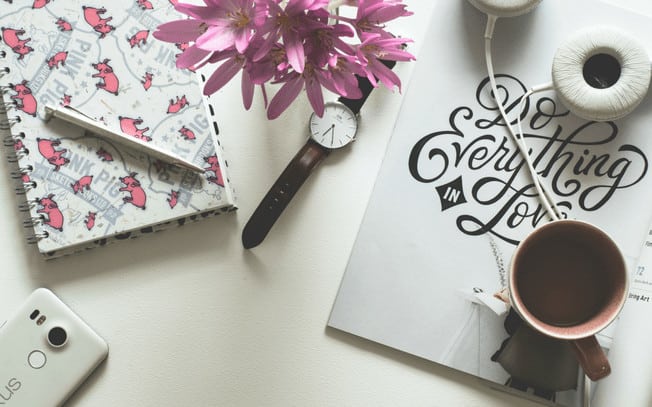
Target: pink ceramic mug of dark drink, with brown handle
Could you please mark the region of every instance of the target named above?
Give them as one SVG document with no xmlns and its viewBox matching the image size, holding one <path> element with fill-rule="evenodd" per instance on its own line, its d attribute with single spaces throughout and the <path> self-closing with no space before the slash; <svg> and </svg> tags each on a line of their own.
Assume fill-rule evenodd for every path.
<svg viewBox="0 0 652 407">
<path fill-rule="evenodd" d="M 627 266 L 600 228 L 558 220 L 532 231 L 509 268 L 510 301 L 537 331 L 569 340 L 591 380 L 611 367 L 595 334 L 609 325 L 627 298 Z"/>
</svg>

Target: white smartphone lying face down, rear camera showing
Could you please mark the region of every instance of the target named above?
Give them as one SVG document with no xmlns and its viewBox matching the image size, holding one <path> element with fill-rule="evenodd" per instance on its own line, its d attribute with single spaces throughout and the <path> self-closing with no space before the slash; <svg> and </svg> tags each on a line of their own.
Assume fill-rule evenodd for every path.
<svg viewBox="0 0 652 407">
<path fill-rule="evenodd" d="M 37 289 L 0 328 L 0 407 L 62 405 L 108 352 L 54 293 Z"/>
</svg>

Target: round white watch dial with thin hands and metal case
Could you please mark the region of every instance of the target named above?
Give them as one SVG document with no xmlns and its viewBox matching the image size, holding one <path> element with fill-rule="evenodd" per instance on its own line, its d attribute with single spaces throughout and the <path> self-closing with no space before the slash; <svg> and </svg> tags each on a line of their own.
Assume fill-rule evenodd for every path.
<svg viewBox="0 0 652 407">
<path fill-rule="evenodd" d="M 310 136 L 326 148 L 340 148 L 355 137 L 358 119 L 355 114 L 341 103 L 327 103 L 324 116 L 310 116 Z"/>
</svg>

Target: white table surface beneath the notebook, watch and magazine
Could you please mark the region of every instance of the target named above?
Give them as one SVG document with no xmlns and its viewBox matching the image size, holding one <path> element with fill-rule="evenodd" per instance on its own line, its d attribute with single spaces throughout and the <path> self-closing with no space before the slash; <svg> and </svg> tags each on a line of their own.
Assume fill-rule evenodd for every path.
<svg viewBox="0 0 652 407">
<path fill-rule="evenodd" d="M 652 14 L 647 0 L 611 2 Z M 418 53 L 434 2 L 405 3 L 415 15 L 393 31 L 416 39 Z M 405 84 L 412 67 L 396 68 Z M 16 197 L 0 177 L 0 322 L 44 286 L 110 346 L 68 405 L 538 405 L 326 328 L 400 95 L 376 90 L 353 148 L 331 154 L 267 239 L 244 250 L 242 228 L 304 143 L 310 111 L 304 98 L 268 122 L 260 95 L 246 112 L 232 85 L 216 101 L 239 199 L 234 214 L 46 262 L 22 239 Z"/>
</svg>

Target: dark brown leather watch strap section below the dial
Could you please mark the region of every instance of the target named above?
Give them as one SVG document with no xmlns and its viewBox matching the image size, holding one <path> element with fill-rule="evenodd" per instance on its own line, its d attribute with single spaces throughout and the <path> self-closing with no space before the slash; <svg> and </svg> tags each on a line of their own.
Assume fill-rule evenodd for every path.
<svg viewBox="0 0 652 407">
<path fill-rule="evenodd" d="M 245 249 L 258 246 L 265 239 L 312 169 L 329 152 L 329 149 L 317 144 L 313 139 L 308 139 L 285 167 L 242 230 L 242 245 Z"/>
</svg>

